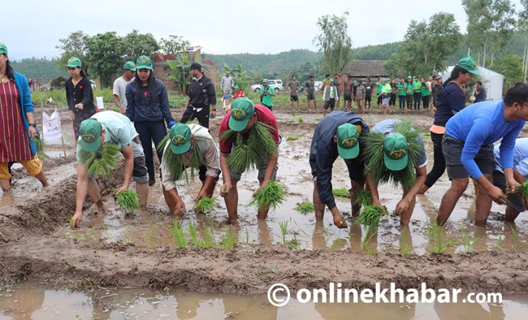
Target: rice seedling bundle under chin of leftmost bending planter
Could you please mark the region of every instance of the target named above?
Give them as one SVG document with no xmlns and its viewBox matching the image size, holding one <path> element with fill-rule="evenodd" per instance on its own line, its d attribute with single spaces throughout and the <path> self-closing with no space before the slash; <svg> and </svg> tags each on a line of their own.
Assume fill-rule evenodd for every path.
<svg viewBox="0 0 528 320">
<path fill-rule="evenodd" d="M 87 152 L 83 149 L 79 151 L 80 159 L 87 165 L 88 174 L 94 177 L 109 177 L 111 170 L 118 167 L 118 155 L 121 148 L 114 144 L 103 144 L 102 151 Z"/>
</svg>

